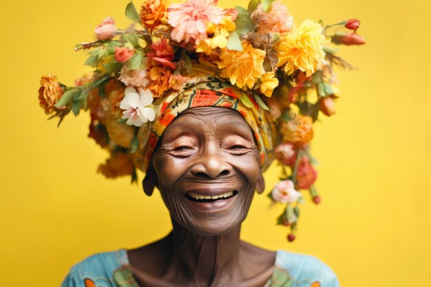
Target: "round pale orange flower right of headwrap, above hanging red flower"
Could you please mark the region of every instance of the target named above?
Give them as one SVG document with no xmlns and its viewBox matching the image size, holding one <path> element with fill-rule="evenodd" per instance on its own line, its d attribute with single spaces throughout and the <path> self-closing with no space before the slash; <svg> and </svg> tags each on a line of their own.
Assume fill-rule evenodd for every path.
<svg viewBox="0 0 431 287">
<path fill-rule="evenodd" d="M 293 120 L 282 122 L 282 136 L 286 142 L 306 145 L 313 138 L 313 118 L 297 115 Z"/>
</svg>

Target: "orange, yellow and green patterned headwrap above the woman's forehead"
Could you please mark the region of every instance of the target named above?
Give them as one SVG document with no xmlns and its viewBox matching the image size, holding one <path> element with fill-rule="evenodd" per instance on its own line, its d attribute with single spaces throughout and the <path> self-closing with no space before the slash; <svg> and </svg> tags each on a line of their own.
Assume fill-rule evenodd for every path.
<svg viewBox="0 0 431 287">
<path fill-rule="evenodd" d="M 262 171 L 269 167 L 273 160 L 273 123 L 266 111 L 249 94 L 230 83 L 213 76 L 197 76 L 191 78 L 182 91 L 162 99 L 149 135 L 143 162 L 144 171 L 147 170 L 154 148 L 167 126 L 182 111 L 193 107 L 226 107 L 238 111 L 253 131 Z"/>
</svg>

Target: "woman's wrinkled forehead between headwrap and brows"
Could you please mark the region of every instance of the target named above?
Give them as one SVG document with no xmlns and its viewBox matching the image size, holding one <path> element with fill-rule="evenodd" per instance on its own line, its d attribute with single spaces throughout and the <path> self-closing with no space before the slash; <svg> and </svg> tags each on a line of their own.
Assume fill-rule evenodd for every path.
<svg viewBox="0 0 431 287">
<path fill-rule="evenodd" d="M 183 111 L 165 130 L 164 137 L 178 129 L 200 130 L 202 132 L 238 132 L 253 138 L 246 120 L 233 109 L 225 107 L 194 107 Z"/>
</svg>

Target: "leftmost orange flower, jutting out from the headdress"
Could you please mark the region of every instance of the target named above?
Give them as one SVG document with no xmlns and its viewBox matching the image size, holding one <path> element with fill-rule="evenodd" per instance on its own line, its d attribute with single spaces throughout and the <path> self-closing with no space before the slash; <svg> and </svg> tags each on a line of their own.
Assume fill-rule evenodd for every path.
<svg viewBox="0 0 431 287">
<path fill-rule="evenodd" d="M 63 96 L 63 92 L 56 76 L 42 76 L 41 87 L 39 88 L 39 105 L 45 109 L 45 114 L 52 114 L 53 111 L 56 111 L 54 105 Z"/>
</svg>

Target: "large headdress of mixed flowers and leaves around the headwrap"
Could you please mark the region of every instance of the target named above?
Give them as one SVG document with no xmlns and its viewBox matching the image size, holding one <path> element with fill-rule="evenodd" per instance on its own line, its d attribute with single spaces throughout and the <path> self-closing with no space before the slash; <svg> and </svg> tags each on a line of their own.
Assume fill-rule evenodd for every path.
<svg viewBox="0 0 431 287">
<path fill-rule="evenodd" d="M 286 204 L 277 224 L 290 226 L 288 241 L 293 241 L 299 191 L 308 190 L 313 202 L 320 202 L 316 161 L 309 152 L 313 123 L 320 114 L 335 113 L 333 65 L 351 68 L 330 44 L 364 44 L 356 32 L 360 22 L 306 20 L 297 27 L 286 6 L 272 0 L 251 0 L 247 9 L 222 9 L 216 0 L 171 5 L 145 0 L 140 13 L 130 2 L 125 14 L 134 21 L 126 30 L 108 17 L 96 27 L 96 41 L 76 45 L 75 50 L 91 50 L 85 65 L 94 67 L 76 86 L 66 87 L 52 75 L 41 78 L 45 113 L 59 117 L 60 124 L 70 111 L 77 116 L 90 109 L 89 136 L 111 154 L 98 171 L 134 181 L 136 169 L 146 169 L 142 151 L 154 145 L 151 128 L 167 97 L 196 76 L 212 74 L 235 87 L 228 96 L 271 120 L 269 156 L 280 164 L 282 176 L 269 197 Z M 333 29 L 343 26 L 347 32 Z"/>
</svg>

